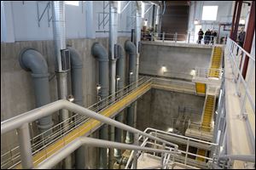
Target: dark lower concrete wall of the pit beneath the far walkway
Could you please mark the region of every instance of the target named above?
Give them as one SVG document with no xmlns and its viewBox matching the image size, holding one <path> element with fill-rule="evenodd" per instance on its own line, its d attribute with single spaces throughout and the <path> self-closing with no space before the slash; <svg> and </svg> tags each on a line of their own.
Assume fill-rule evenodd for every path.
<svg viewBox="0 0 256 170">
<path fill-rule="evenodd" d="M 177 129 L 183 134 L 191 122 L 201 122 L 205 97 L 152 88 L 137 101 L 137 128 Z M 185 121 L 183 123 L 183 121 Z"/>
</svg>

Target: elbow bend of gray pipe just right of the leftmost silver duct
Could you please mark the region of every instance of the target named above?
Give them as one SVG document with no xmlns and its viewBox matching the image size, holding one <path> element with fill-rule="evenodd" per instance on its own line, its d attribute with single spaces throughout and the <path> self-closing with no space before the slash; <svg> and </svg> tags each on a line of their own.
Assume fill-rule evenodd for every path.
<svg viewBox="0 0 256 170">
<path fill-rule="evenodd" d="M 81 69 L 83 68 L 83 60 L 80 57 L 79 52 L 72 47 L 67 47 L 70 51 L 70 64 L 73 69 Z"/>
</svg>

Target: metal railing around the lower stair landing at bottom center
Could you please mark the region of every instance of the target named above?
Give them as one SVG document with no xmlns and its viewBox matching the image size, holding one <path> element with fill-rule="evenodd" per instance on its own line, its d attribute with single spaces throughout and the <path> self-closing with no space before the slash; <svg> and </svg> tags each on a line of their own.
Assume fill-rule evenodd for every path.
<svg viewBox="0 0 256 170">
<path fill-rule="evenodd" d="M 205 158 L 207 161 L 212 162 L 212 158 L 210 156 L 200 156 L 197 154 L 194 154 L 189 151 L 189 147 L 194 146 L 198 148 L 203 148 L 205 150 L 211 150 L 212 152 L 217 152 L 218 151 L 218 144 L 210 143 L 207 141 L 203 141 L 200 139 L 193 139 L 189 138 L 183 135 L 179 135 L 176 133 L 167 133 L 165 131 L 161 131 L 155 128 L 148 127 L 144 130 L 144 133 L 149 133 L 151 135 L 154 135 L 155 137 L 158 137 L 160 139 L 165 139 L 167 141 L 172 141 L 172 143 L 175 144 L 185 144 L 186 145 L 186 150 L 177 150 L 177 155 L 173 154 L 162 154 L 160 156 L 160 166 L 159 167 L 147 167 L 148 169 L 150 168 L 170 168 L 173 166 L 175 161 L 183 163 L 183 165 L 192 165 L 195 167 L 201 167 L 201 168 L 207 168 L 207 163 L 206 162 L 198 162 L 195 161 L 188 156 L 195 156 L 195 157 L 201 157 Z M 163 146 L 162 144 L 159 144 L 155 140 L 150 140 L 148 138 L 143 138 L 143 136 L 139 136 L 139 140 L 141 141 L 141 146 L 149 146 L 152 148 L 163 148 L 165 147 L 166 150 L 172 150 L 171 147 L 169 147 L 167 144 Z M 139 151 L 137 155 L 134 154 L 134 151 L 131 151 L 131 155 L 129 157 L 129 160 L 127 161 L 125 165 L 125 169 L 128 168 L 136 168 L 134 166 L 134 159 L 137 159 L 141 154 L 145 152 Z M 154 153 L 154 156 L 156 154 Z"/>
</svg>

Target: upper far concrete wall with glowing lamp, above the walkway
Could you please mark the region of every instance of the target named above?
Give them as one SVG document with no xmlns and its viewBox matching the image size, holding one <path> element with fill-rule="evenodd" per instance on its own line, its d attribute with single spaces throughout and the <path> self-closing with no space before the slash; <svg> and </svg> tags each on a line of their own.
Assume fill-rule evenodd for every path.
<svg viewBox="0 0 256 170">
<path fill-rule="evenodd" d="M 211 46 L 143 42 L 139 73 L 191 81 L 190 71 L 195 67 L 208 68 L 211 54 Z"/>
</svg>

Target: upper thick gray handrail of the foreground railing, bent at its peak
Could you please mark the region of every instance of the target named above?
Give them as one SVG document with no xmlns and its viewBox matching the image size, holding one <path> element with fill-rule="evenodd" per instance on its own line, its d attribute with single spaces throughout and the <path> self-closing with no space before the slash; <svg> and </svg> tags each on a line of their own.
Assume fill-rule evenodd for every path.
<svg viewBox="0 0 256 170">
<path fill-rule="evenodd" d="M 59 111 L 60 109 L 67 109 L 68 111 L 73 111 L 75 113 L 78 113 L 80 115 L 89 116 L 90 118 L 94 118 L 100 122 L 107 123 L 108 125 L 112 125 L 114 127 L 119 127 L 123 130 L 129 131 L 131 133 L 139 133 L 145 137 L 148 137 L 148 139 L 155 139 L 159 142 L 170 144 L 173 147 L 177 149 L 177 144 L 172 144 L 166 140 L 156 138 L 154 136 L 149 135 L 148 133 L 143 133 L 140 130 L 137 130 L 134 127 L 129 127 L 121 122 L 114 121 L 111 118 L 108 118 L 106 116 L 102 116 L 101 114 L 98 114 L 94 111 L 90 111 L 88 109 L 85 109 L 84 107 L 80 105 L 73 104 L 72 102 L 69 102 L 64 99 L 57 100 L 53 103 L 50 103 L 48 105 L 44 105 L 40 108 L 34 109 L 32 111 L 27 111 L 24 114 L 21 114 L 19 116 L 12 117 L 6 121 L 1 122 L 1 134 L 7 133 L 11 130 L 14 130 L 18 127 L 21 127 L 24 123 L 27 122 L 33 122 L 37 120 L 38 118 L 41 118 L 43 116 L 49 116 L 55 111 Z"/>
</svg>

